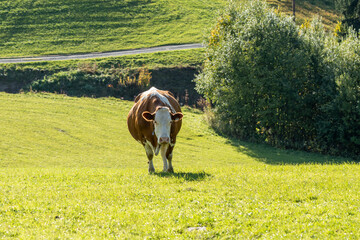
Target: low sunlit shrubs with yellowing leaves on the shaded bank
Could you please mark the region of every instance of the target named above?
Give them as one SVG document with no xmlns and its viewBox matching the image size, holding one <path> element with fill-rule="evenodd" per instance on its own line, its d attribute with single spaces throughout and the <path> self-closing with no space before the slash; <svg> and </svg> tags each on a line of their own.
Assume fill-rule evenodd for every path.
<svg viewBox="0 0 360 240">
<path fill-rule="evenodd" d="M 77 70 L 63 71 L 31 83 L 33 91 L 64 93 L 71 96 L 115 96 L 133 98 L 150 85 L 147 69 L 110 68 L 98 71 L 96 66 L 82 65 Z"/>
</svg>

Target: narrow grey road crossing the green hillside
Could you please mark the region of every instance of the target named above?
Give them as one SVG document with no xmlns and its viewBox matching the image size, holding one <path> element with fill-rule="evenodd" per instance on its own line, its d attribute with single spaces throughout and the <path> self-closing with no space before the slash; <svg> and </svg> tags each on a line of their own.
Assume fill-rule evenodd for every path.
<svg viewBox="0 0 360 240">
<path fill-rule="evenodd" d="M 132 55 L 132 54 L 139 54 L 139 53 L 164 52 L 164 51 L 184 50 L 184 49 L 193 49 L 193 48 L 202 48 L 202 47 L 203 46 L 201 44 L 194 43 L 194 44 L 168 45 L 168 46 L 161 46 L 161 47 L 140 48 L 140 49 L 133 49 L 133 50 L 122 50 L 122 51 L 103 52 L 103 53 L 50 55 L 50 56 L 27 57 L 27 58 L 7 58 L 7 59 L 3 58 L 3 59 L 0 59 L 0 63 L 24 63 L 24 62 L 42 62 L 42 61 L 59 61 L 59 60 L 73 60 L 73 59 L 118 57 L 118 56 Z"/>
</svg>

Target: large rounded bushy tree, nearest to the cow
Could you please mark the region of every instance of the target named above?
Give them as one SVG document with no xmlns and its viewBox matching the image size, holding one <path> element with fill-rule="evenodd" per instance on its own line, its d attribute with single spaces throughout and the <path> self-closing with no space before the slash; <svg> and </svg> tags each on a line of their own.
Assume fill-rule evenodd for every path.
<svg viewBox="0 0 360 240">
<path fill-rule="evenodd" d="M 320 113 L 313 95 L 324 95 L 327 74 L 318 60 L 323 44 L 314 48 L 309 42 L 323 36 L 303 35 L 308 41 L 292 18 L 262 1 L 231 6 L 220 17 L 196 82 L 214 104 L 223 131 L 279 146 L 309 146 L 316 130 L 312 119 Z"/>
</svg>

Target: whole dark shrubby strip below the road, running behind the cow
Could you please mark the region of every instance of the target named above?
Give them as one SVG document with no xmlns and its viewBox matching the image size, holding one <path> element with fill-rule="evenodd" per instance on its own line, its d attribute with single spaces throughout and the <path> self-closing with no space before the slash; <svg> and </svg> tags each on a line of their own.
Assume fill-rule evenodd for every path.
<svg viewBox="0 0 360 240">
<path fill-rule="evenodd" d="M 114 65 L 99 66 L 84 62 L 74 69 L 51 70 L 4 65 L 0 67 L 0 91 L 46 91 L 70 96 L 113 96 L 133 100 L 141 91 L 156 86 L 173 92 L 181 104 L 196 105 L 200 97 L 194 89 L 193 79 L 199 71 L 195 66 L 146 69 Z"/>
</svg>

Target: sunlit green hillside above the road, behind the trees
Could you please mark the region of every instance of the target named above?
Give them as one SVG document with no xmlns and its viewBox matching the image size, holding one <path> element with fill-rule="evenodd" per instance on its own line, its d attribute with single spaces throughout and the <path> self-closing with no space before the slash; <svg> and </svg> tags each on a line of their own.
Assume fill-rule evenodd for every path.
<svg viewBox="0 0 360 240">
<path fill-rule="evenodd" d="M 291 1 L 269 0 L 290 13 Z M 297 1 L 298 22 L 313 14 L 329 28 L 329 0 Z M 112 51 L 201 42 L 226 0 L 4 0 L 0 57 Z"/>
</svg>

